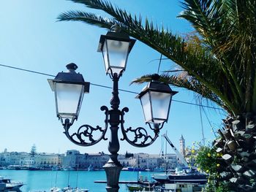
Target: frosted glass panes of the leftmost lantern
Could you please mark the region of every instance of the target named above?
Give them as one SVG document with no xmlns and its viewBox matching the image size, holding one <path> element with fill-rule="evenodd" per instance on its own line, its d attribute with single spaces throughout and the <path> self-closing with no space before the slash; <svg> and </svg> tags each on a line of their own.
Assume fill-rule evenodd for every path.
<svg viewBox="0 0 256 192">
<path fill-rule="evenodd" d="M 56 107 L 61 118 L 78 116 L 83 93 L 84 85 L 56 83 Z"/>
</svg>

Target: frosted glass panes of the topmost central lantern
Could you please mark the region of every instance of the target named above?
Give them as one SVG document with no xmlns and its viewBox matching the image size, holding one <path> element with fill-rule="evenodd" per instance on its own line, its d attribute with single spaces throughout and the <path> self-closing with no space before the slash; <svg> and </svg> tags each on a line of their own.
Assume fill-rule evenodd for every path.
<svg viewBox="0 0 256 192">
<path fill-rule="evenodd" d="M 104 46 L 108 46 L 108 66 L 113 73 L 119 74 L 127 64 L 129 42 L 106 39 Z M 106 58 L 104 59 L 106 61 Z"/>
</svg>

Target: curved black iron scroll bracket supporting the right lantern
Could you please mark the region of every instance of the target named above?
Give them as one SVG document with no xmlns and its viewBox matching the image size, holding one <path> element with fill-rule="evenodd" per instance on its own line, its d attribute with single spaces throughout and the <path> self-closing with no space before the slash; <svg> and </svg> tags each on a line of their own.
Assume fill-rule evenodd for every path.
<svg viewBox="0 0 256 192">
<path fill-rule="evenodd" d="M 122 141 L 127 140 L 127 142 L 130 145 L 133 145 L 135 147 L 148 147 L 157 139 L 157 137 L 159 136 L 159 130 L 163 127 L 164 123 L 162 123 L 161 125 L 154 124 L 154 128 L 151 127 L 150 123 L 147 123 L 149 128 L 151 128 L 151 130 L 154 131 L 153 137 L 151 137 L 151 135 L 148 135 L 146 128 L 143 128 L 143 127 L 138 127 L 135 129 L 132 129 L 132 127 L 129 127 L 127 129 L 125 129 L 124 128 L 124 113 L 128 112 L 128 111 L 129 111 L 129 109 L 127 107 L 124 107 L 124 109 L 121 110 L 121 131 L 123 134 L 123 138 L 121 140 Z M 128 132 L 132 132 L 134 134 L 133 140 L 130 140 L 127 137 Z"/>
</svg>

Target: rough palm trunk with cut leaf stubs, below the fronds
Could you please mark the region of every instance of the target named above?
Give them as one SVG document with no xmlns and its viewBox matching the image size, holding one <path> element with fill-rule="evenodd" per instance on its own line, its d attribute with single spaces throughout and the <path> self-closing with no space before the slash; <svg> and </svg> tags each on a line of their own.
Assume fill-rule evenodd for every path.
<svg viewBox="0 0 256 192">
<path fill-rule="evenodd" d="M 233 191 L 256 191 L 256 114 L 246 113 L 224 120 L 220 138 L 214 141 L 219 162 L 219 180 Z"/>
</svg>

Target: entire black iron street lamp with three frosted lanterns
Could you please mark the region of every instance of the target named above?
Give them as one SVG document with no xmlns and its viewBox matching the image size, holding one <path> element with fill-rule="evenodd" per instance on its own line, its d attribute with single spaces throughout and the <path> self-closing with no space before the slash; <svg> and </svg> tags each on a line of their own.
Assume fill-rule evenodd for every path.
<svg viewBox="0 0 256 192">
<path fill-rule="evenodd" d="M 106 106 L 100 108 L 105 111 L 105 128 L 83 125 L 78 128 L 76 133 L 69 133 L 69 128 L 75 120 L 78 120 L 83 93 L 89 93 L 89 82 L 83 80 L 82 74 L 75 72 L 78 66 L 68 64 L 68 72 L 60 72 L 55 79 L 48 80 L 55 93 L 57 117 L 64 126 L 64 134 L 71 142 L 80 146 L 95 145 L 100 140 L 107 139 L 105 134 L 110 125 L 111 137 L 108 145 L 110 159 L 103 168 L 107 175 L 108 186 L 106 189 L 111 192 L 118 191 L 118 180 L 122 169 L 117 159 L 119 126 L 123 135 L 121 140 L 126 140 L 135 147 L 151 145 L 157 139 L 159 130 L 167 122 L 172 96 L 177 93 L 172 91 L 167 84 L 159 82 L 159 75 L 154 75 L 152 81 L 137 96 L 143 107 L 146 124 L 153 130 L 153 136 L 149 135 L 146 128 L 143 127 L 124 128 L 124 114 L 129 109 L 124 107 L 119 110 L 118 80 L 126 68 L 127 58 L 134 44 L 135 39 L 129 39 L 127 34 L 122 34 L 117 30 L 109 31 L 108 34 L 100 37 L 98 51 L 102 52 L 106 73 L 113 80 L 111 108 L 108 109 Z M 94 132 L 100 133 L 99 138 L 94 139 Z M 131 133 L 134 139 L 129 139 L 127 133 Z"/>
</svg>

